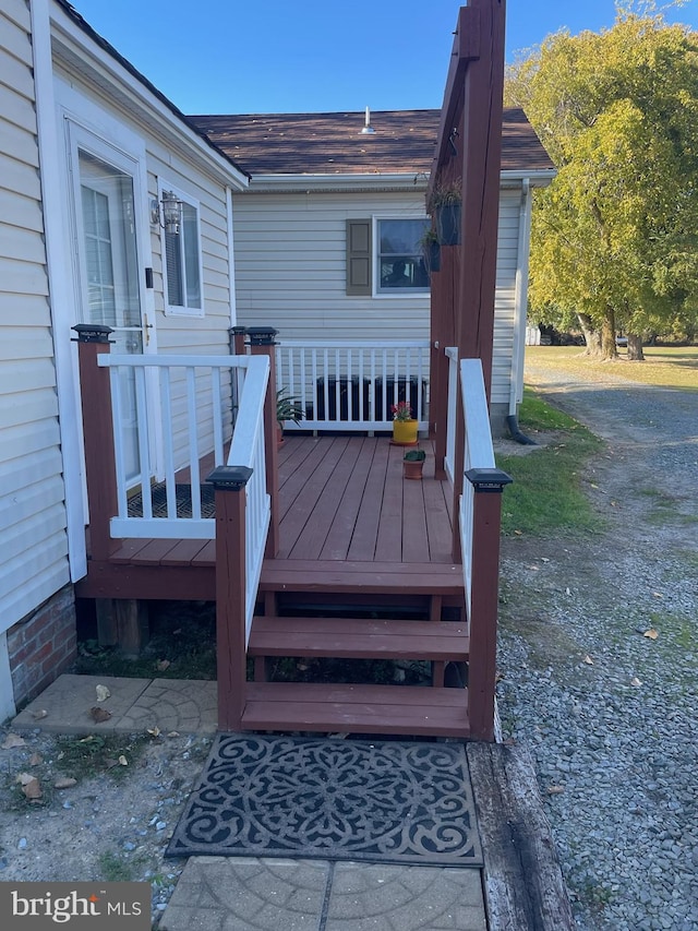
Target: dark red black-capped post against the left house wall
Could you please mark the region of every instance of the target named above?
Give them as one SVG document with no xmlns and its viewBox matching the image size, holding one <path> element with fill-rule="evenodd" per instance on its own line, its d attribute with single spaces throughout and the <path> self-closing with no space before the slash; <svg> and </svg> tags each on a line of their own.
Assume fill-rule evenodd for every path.
<svg viewBox="0 0 698 931">
<path fill-rule="evenodd" d="M 118 546 L 109 533 L 117 513 L 113 422 L 109 369 L 99 368 L 97 357 L 109 351 L 110 326 L 79 323 L 77 362 L 85 443 L 85 477 L 89 509 L 89 556 L 106 560 Z"/>
</svg>

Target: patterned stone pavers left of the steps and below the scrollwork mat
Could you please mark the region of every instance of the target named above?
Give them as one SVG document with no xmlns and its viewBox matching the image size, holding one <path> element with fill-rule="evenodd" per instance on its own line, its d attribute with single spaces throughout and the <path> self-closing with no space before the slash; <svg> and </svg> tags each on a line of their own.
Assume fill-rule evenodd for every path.
<svg viewBox="0 0 698 931">
<path fill-rule="evenodd" d="M 109 697 L 96 700 L 96 685 Z M 96 723 L 91 708 L 109 712 Z M 49 709 L 41 717 L 43 709 Z M 13 721 L 58 733 L 214 733 L 216 683 L 64 675 Z M 478 869 L 192 857 L 164 931 L 486 931 Z"/>
</svg>

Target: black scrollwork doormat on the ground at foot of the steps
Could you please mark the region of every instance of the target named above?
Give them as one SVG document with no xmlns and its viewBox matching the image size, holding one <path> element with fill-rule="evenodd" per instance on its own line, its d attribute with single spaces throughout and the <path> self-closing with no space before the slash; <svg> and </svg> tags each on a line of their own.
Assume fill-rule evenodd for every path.
<svg viewBox="0 0 698 931">
<path fill-rule="evenodd" d="M 166 852 L 481 867 L 465 748 L 219 735 Z"/>
</svg>

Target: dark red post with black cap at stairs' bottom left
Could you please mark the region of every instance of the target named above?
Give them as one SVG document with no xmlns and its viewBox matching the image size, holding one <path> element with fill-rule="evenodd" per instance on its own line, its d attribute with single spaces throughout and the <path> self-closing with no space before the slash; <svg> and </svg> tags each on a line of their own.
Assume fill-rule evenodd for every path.
<svg viewBox="0 0 698 931">
<path fill-rule="evenodd" d="M 245 486 L 252 469 L 218 466 L 206 481 L 216 496 L 216 655 L 218 730 L 242 724 L 246 681 Z"/>
</svg>

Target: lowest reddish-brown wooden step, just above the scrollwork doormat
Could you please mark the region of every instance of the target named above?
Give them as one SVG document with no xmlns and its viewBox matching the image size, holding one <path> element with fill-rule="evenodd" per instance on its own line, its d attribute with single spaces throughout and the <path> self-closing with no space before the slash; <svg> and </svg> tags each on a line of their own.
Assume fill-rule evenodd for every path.
<svg viewBox="0 0 698 931">
<path fill-rule="evenodd" d="M 466 689 L 248 682 L 244 730 L 468 737 Z"/>
</svg>

